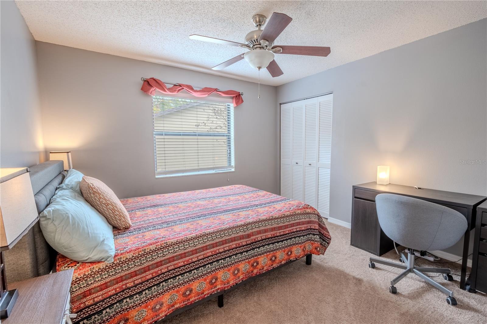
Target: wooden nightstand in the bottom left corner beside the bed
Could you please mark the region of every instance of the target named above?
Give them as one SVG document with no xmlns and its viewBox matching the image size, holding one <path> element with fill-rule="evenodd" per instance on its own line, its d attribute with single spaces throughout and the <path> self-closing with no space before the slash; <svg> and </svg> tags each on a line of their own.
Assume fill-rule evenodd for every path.
<svg viewBox="0 0 487 324">
<path fill-rule="evenodd" d="M 70 269 L 9 284 L 9 289 L 18 289 L 19 298 L 2 324 L 71 323 L 69 291 L 72 279 L 73 270 Z"/>
</svg>

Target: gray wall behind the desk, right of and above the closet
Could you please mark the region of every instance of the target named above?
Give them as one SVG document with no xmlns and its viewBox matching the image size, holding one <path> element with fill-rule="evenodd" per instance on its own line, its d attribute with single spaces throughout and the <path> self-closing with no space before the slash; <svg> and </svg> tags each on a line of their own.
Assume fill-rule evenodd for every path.
<svg viewBox="0 0 487 324">
<path fill-rule="evenodd" d="M 482 19 L 278 87 L 278 103 L 334 93 L 330 217 L 350 222 L 352 185 L 382 164 L 391 183 L 487 195 L 486 165 L 460 162 L 487 159 L 486 39 Z"/>
</svg>

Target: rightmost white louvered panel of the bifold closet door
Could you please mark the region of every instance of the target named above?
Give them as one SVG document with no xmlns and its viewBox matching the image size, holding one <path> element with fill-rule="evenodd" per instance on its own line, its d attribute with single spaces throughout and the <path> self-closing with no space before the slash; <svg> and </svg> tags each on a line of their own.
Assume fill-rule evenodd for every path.
<svg viewBox="0 0 487 324">
<path fill-rule="evenodd" d="M 330 215 L 330 163 L 332 150 L 333 93 L 318 100 L 318 212 Z"/>
</svg>

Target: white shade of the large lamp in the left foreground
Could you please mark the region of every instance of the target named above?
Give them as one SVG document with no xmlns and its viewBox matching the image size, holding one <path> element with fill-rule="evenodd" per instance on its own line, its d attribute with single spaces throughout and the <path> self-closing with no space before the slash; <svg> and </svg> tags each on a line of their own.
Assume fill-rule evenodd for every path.
<svg viewBox="0 0 487 324">
<path fill-rule="evenodd" d="M 0 246 L 10 249 L 37 220 L 29 169 L 0 169 Z"/>
</svg>

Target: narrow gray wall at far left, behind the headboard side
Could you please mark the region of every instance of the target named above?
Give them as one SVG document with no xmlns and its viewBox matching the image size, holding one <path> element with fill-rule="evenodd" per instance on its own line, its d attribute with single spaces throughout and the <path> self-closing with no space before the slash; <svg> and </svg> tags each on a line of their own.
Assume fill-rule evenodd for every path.
<svg viewBox="0 0 487 324">
<path fill-rule="evenodd" d="M 0 166 L 31 166 L 44 157 L 36 43 L 14 1 L 0 15 Z"/>
</svg>

